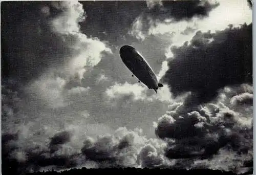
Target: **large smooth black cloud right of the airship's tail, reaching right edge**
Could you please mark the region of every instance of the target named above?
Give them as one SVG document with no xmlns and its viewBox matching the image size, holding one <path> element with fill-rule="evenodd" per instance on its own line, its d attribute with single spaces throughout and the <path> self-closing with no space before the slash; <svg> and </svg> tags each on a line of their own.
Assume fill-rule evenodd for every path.
<svg viewBox="0 0 256 175">
<path fill-rule="evenodd" d="M 191 91 L 200 104 L 225 85 L 252 83 L 252 24 L 216 33 L 198 31 L 190 44 L 172 52 L 162 80 L 174 95 Z"/>
</svg>

